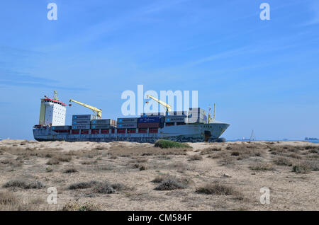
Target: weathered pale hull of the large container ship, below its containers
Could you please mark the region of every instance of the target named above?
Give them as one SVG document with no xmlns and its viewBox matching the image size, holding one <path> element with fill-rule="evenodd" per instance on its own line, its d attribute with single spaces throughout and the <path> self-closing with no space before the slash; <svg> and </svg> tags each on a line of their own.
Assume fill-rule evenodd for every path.
<svg viewBox="0 0 319 225">
<path fill-rule="evenodd" d="M 135 134 L 71 134 L 55 132 L 50 127 L 33 128 L 35 140 L 40 142 L 146 142 L 155 143 L 157 139 L 174 142 L 218 142 L 220 135 L 229 127 L 227 123 L 187 124 L 159 128 L 157 133 Z"/>
</svg>

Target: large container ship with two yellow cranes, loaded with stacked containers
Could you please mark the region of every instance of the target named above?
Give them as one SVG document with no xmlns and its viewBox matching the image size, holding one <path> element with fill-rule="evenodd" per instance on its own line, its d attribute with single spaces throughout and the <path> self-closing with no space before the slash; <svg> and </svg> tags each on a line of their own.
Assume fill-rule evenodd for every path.
<svg viewBox="0 0 319 225">
<path fill-rule="evenodd" d="M 39 124 L 33 126 L 37 141 L 66 142 L 148 142 L 169 139 L 174 142 L 225 142 L 220 135 L 230 126 L 208 116 L 202 108 L 174 111 L 170 105 L 153 96 L 147 96 L 166 108 L 166 113 L 142 113 L 140 117 L 121 117 L 117 120 L 102 119 L 102 110 L 74 102 L 89 108 L 94 115 L 72 115 L 72 125 L 65 125 L 67 105 L 57 98 L 41 99 Z M 72 104 L 69 104 L 71 106 Z"/>
</svg>

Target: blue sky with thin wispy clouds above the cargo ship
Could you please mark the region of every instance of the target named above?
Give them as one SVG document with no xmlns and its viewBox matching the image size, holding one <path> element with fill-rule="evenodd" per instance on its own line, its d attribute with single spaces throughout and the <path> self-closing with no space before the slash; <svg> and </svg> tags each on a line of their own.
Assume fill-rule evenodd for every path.
<svg viewBox="0 0 319 225">
<path fill-rule="evenodd" d="M 57 4 L 57 21 L 47 4 Z M 271 7 L 261 21 L 259 5 Z M 40 98 L 59 92 L 121 115 L 121 93 L 197 90 L 226 139 L 319 137 L 319 1 L 4 1 L 0 137 L 33 139 Z M 72 114 L 90 113 L 74 105 Z"/>
</svg>

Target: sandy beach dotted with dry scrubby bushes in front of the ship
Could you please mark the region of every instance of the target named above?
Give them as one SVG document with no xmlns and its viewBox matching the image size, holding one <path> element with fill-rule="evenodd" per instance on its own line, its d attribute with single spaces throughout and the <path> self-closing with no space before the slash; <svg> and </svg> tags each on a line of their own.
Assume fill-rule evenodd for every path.
<svg viewBox="0 0 319 225">
<path fill-rule="evenodd" d="M 319 208 L 319 144 L 189 145 L 191 149 L 160 149 L 130 142 L 4 139 L 0 142 L 0 209 L 76 210 L 83 205 L 96 210 Z M 176 187 L 161 190 L 167 179 Z M 50 187 L 57 189 L 57 204 L 47 204 Z M 263 187 L 269 188 L 269 204 L 260 202 Z"/>
</svg>

